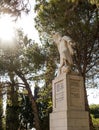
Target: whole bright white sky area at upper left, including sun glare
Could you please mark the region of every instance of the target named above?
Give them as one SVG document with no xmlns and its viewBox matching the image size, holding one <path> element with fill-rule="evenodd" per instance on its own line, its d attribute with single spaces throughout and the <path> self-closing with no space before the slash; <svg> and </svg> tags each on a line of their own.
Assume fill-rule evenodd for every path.
<svg viewBox="0 0 99 130">
<path fill-rule="evenodd" d="M 15 28 L 22 29 L 30 39 L 40 43 L 38 31 L 35 29 L 35 13 L 34 13 L 35 1 L 31 1 L 31 10 L 29 14 L 22 13 L 18 20 L 13 22 L 14 18 L 8 14 L 0 15 L 0 41 L 3 45 L 11 45 L 15 40 Z"/>
</svg>

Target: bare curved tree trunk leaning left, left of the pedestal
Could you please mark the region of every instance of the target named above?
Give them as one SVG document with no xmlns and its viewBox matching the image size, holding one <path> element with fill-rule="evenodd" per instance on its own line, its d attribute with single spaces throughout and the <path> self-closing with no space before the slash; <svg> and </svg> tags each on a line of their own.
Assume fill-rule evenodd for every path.
<svg viewBox="0 0 99 130">
<path fill-rule="evenodd" d="M 33 97 L 32 91 L 30 89 L 30 86 L 29 86 L 27 80 L 25 79 L 24 75 L 21 72 L 15 71 L 15 73 L 24 82 L 26 90 L 28 91 L 29 99 L 32 102 L 32 109 L 33 109 L 33 113 L 34 113 L 35 128 L 36 128 L 36 130 L 41 130 L 41 128 L 40 128 L 39 114 L 38 114 L 38 110 L 37 110 L 37 105 L 36 105 L 36 102 L 34 100 L 34 97 Z"/>
</svg>

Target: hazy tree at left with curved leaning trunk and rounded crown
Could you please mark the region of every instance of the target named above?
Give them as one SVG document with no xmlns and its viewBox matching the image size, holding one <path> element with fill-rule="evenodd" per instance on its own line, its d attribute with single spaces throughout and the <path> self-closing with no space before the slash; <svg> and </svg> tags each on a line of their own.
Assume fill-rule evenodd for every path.
<svg viewBox="0 0 99 130">
<path fill-rule="evenodd" d="M 19 37 L 17 36 L 17 41 L 14 42 L 13 49 L 1 48 L 0 71 L 3 71 L 6 74 L 13 73 L 20 78 L 23 87 L 26 88 L 29 99 L 32 102 L 35 128 L 40 130 L 39 114 L 31 91 L 30 81 L 35 77 L 34 74 L 42 68 L 44 55 L 41 47 L 33 41 L 28 40 L 27 37 L 24 37 L 20 31 L 19 33 L 20 35 Z M 37 60 L 37 58 L 39 60 Z"/>
</svg>

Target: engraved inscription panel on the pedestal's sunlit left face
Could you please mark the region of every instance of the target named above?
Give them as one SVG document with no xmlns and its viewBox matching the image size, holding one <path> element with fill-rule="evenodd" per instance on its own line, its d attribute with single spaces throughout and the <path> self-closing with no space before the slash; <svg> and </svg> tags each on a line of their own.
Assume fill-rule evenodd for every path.
<svg viewBox="0 0 99 130">
<path fill-rule="evenodd" d="M 64 100 L 64 85 L 63 81 L 59 81 L 54 84 L 55 97 L 54 97 L 54 106 L 55 108 L 63 102 Z"/>
</svg>

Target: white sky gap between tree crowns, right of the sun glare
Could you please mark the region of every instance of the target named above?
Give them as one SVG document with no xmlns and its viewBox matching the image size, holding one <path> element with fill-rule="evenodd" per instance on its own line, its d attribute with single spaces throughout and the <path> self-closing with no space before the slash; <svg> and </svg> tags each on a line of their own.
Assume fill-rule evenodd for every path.
<svg viewBox="0 0 99 130">
<path fill-rule="evenodd" d="M 31 0 L 30 0 L 31 1 Z M 18 20 L 18 27 L 23 28 L 23 31 L 30 39 L 35 40 L 36 42 L 40 43 L 39 36 L 38 36 L 38 31 L 35 29 L 35 13 L 34 13 L 34 4 L 35 0 L 31 1 L 31 10 L 29 14 L 22 14 L 21 20 Z"/>
</svg>

